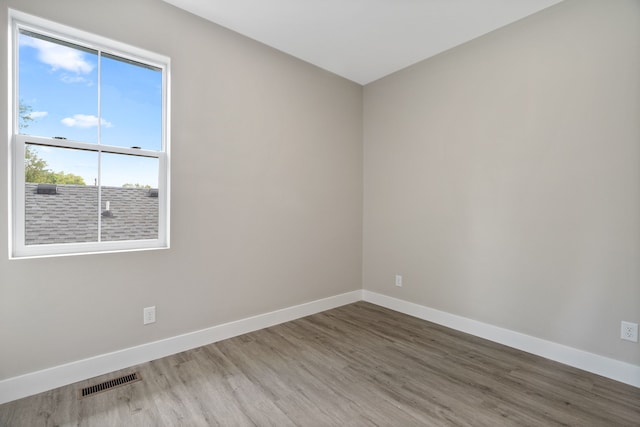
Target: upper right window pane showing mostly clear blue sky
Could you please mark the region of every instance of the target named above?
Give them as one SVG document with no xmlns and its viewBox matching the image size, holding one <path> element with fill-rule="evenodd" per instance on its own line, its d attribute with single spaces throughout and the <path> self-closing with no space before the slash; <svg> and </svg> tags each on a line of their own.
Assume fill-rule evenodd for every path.
<svg viewBox="0 0 640 427">
<path fill-rule="evenodd" d="M 101 58 L 101 143 L 162 149 L 162 70 L 111 55 Z"/>
</svg>

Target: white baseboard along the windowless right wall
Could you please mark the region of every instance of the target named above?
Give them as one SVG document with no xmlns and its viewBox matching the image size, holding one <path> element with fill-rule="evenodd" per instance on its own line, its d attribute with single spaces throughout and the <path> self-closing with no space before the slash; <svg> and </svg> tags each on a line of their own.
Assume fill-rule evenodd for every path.
<svg viewBox="0 0 640 427">
<path fill-rule="evenodd" d="M 419 319 L 428 320 L 451 329 L 466 332 L 489 341 L 542 356 L 583 371 L 591 372 L 625 384 L 640 387 L 640 366 L 621 362 L 576 348 L 567 347 L 509 329 L 456 316 L 419 304 L 392 298 L 376 292 L 363 291 L 364 301 L 380 305 Z"/>
</svg>

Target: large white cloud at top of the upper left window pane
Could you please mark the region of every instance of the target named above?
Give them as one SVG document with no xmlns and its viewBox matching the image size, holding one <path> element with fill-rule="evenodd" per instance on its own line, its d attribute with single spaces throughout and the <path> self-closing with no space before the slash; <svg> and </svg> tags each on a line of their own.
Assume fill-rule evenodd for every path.
<svg viewBox="0 0 640 427">
<path fill-rule="evenodd" d="M 51 66 L 78 74 L 90 73 L 95 65 L 87 61 L 82 51 L 32 37 L 22 37 L 21 44 L 38 50 L 38 59 Z"/>
</svg>

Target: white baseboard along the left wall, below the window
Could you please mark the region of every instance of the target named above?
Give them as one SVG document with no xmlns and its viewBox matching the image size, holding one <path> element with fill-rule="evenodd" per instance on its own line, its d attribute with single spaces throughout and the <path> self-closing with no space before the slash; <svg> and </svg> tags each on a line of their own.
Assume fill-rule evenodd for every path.
<svg viewBox="0 0 640 427">
<path fill-rule="evenodd" d="M 353 291 L 0 381 L 0 404 L 362 300 Z"/>
</svg>

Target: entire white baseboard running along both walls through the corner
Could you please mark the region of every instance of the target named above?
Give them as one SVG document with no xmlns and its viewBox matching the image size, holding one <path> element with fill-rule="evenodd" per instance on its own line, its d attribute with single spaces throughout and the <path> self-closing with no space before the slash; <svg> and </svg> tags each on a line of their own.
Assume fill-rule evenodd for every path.
<svg viewBox="0 0 640 427">
<path fill-rule="evenodd" d="M 358 290 L 8 378 L 0 381 L 0 404 L 361 300 L 640 387 L 640 366 L 376 292 Z"/>
</svg>

